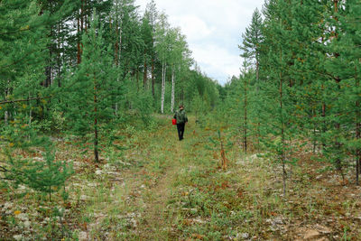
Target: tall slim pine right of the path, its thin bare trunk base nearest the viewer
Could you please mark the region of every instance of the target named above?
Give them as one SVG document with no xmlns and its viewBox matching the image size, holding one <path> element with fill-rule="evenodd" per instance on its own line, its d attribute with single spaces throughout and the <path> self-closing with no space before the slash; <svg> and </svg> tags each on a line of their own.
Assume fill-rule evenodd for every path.
<svg viewBox="0 0 361 241">
<path fill-rule="evenodd" d="M 294 163 L 290 158 L 292 138 L 298 131 L 294 121 L 294 87 L 290 66 L 292 66 L 292 4 L 269 1 L 264 9 L 264 42 L 262 62 L 266 83 L 261 88 L 264 98 L 261 104 L 261 131 L 263 143 L 282 164 L 283 194 L 286 193 L 287 165 Z M 269 138 L 273 136 L 272 138 Z M 268 138 L 267 138 L 268 137 Z M 274 139 L 273 139 L 274 138 Z"/>
</svg>

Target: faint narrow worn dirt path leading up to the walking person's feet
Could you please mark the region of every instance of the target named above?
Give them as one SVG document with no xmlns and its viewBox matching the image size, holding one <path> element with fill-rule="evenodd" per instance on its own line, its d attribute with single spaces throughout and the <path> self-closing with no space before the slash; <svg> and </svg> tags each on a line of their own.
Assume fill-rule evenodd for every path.
<svg viewBox="0 0 361 241">
<path fill-rule="evenodd" d="M 190 126 L 188 127 L 190 136 Z M 139 207 L 143 205 L 136 230 L 140 240 L 166 240 L 171 232 L 172 210 L 167 209 L 167 204 L 173 191 L 174 179 L 184 167 L 184 162 L 181 162 L 182 150 L 187 142 L 186 140 L 179 142 L 174 129 L 174 126 L 167 126 L 164 132 L 161 132 L 162 136 L 154 136 L 168 145 L 163 160 L 166 167 L 156 177 L 156 184 L 151 189 L 144 190 L 141 198 L 137 200 Z"/>
</svg>

